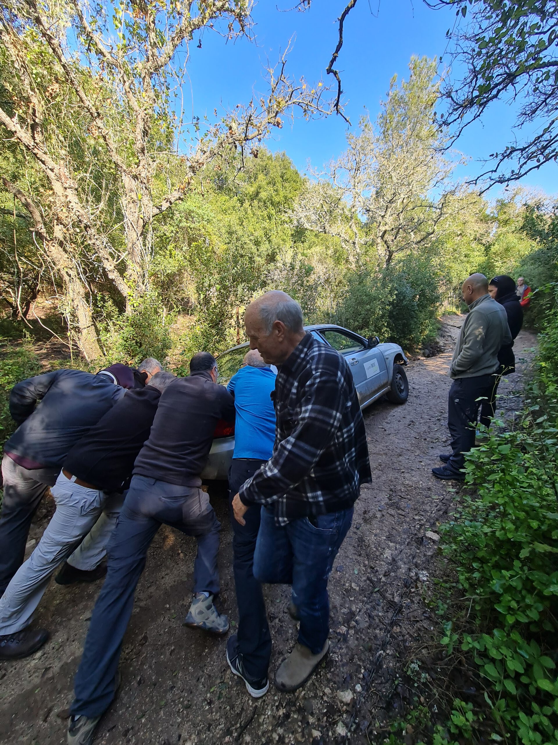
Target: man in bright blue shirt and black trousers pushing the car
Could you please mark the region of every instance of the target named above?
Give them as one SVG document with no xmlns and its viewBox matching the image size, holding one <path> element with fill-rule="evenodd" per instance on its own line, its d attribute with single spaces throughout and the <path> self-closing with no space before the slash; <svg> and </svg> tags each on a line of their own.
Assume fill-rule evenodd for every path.
<svg viewBox="0 0 558 745">
<path fill-rule="evenodd" d="M 229 505 L 240 486 L 272 456 L 275 443 L 275 372 L 268 367 L 257 349 L 244 358 L 244 367 L 228 384 L 234 396 L 237 418 L 234 425 L 234 454 L 228 474 Z M 228 638 L 227 661 L 231 671 L 246 683 L 254 698 L 269 688 L 267 670 L 272 653 L 272 638 L 267 624 L 261 585 L 254 580 L 252 567 L 260 506 L 249 507 L 241 525 L 231 508 L 234 549 L 234 584 L 237 589 L 238 633 Z"/>
</svg>

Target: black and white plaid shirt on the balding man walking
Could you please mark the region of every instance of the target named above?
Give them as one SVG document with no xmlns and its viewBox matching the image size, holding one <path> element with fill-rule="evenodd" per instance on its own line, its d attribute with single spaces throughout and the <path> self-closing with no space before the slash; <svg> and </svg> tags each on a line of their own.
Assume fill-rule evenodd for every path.
<svg viewBox="0 0 558 745">
<path fill-rule="evenodd" d="M 339 352 L 307 334 L 275 381 L 275 446 L 240 488 L 278 524 L 352 507 L 372 481 L 365 423 L 353 375 Z"/>
</svg>

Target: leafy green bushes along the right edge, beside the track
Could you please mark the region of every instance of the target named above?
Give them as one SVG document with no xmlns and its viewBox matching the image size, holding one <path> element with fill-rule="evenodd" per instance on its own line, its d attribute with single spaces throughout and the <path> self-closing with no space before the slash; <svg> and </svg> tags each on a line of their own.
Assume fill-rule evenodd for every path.
<svg viewBox="0 0 558 745">
<path fill-rule="evenodd" d="M 554 288 L 558 299 L 558 288 Z M 454 522 L 443 528 L 469 621 L 443 643 L 478 665 L 500 732 L 525 745 L 558 743 L 558 318 L 540 336 L 525 410 L 467 457 Z"/>
</svg>

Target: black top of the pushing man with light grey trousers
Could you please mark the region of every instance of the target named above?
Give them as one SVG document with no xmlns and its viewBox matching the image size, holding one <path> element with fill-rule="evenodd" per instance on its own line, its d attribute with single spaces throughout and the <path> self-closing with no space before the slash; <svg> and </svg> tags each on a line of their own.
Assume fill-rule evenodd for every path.
<svg viewBox="0 0 558 745">
<path fill-rule="evenodd" d="M 126 392 L 64 460 L 64 468 L 105 492 L 127 489 L 134 461 L 150 436 L 161 392 L 147 385 Z"/>
</svg>

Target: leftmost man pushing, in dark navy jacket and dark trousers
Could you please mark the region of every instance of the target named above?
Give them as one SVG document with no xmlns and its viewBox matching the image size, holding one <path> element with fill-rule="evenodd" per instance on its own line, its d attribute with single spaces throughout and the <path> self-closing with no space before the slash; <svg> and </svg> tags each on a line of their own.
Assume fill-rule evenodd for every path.
<svg viewBox="0 0 558 745">
<path fill-rule="evenodd" d="M 10 414 L 19 427 L 2 460 L 0 595 L 22 564 L 33 515 L 71 446 L 124 393 L 106 375 L 81 370 L 54 370 L 13 387 Z"/>
</svg>

